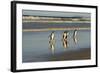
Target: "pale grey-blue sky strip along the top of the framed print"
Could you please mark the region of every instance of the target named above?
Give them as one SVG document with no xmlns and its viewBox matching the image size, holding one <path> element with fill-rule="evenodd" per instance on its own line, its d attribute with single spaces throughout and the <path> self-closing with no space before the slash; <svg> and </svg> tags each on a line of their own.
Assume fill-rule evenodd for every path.
<svg viewBox="0 0 100 73">
<path fill-rule="evenodd" d="M 31 16 L 55 16 L 55 17 L 87 17 L 90 18 L 90 13 L 82 12 L 58 12 L 58 11 L 39 11 L 39 10 L 23 10 L 23 15 Z"/>
</svg>

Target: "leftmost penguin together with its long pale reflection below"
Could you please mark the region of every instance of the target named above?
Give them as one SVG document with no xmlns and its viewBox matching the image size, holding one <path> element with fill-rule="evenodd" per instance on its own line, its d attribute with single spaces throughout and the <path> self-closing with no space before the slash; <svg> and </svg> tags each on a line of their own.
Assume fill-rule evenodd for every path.
<svg viewBox="0 0 100 73">
<path fill-rule="evenodd" d="M 49 35 L 49 47 L 51 52 L 54 54 L 55 51 L 55 34 L 54 31 Z"/>
</svg>

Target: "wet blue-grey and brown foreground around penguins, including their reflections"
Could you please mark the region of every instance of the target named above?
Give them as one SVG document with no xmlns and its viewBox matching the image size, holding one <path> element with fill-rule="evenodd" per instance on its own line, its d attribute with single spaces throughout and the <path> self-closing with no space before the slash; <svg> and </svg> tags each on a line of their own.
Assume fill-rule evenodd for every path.
<svg viewBox="0 0 100 73">
<path fill-rule="evenodd" d="M 78 30 L 75 37 L 73 36 L 74 30 L 70 30 L 68 31 L 68 39 L 65 42 L 62 41 L 64 31 L 55 31 L 53 43 L 50 43 L 49 39 L 51 32 L 22 33 L 23 62 L 90 59 L 90 30 Z"/>
</svg>

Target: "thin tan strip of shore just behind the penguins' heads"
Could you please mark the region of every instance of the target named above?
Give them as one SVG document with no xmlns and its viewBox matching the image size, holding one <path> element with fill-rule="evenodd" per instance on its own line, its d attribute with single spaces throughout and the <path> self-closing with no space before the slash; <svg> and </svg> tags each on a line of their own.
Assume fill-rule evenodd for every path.
<svg viewBox="0 0 100 73">
<path fill-rule="evenodd" d="M 23 32 L 57 31 L 57 30 L 90 30 L 91 28 L 44 28 L 44 29 L 22 29 Z"/>
</svg>

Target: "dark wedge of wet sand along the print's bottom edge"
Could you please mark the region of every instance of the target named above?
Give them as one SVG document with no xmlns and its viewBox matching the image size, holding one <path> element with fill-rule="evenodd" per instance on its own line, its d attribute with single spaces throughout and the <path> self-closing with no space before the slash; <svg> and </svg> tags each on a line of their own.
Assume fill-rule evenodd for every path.
<svg viewBox="0 0 100 73">
<path fill-rule="evenodd" d="M 39 61 L 38 59 L 41 59 L 41 61 Z M 74 60 L 87 60 L 87 59 L 91 59 L 91 52 L 89 48 L 80 51 L 65 51 L 61 53 L 54 53 L 51 55 L 44 54 L 41 57 L 39 56 L 33 57 L 30 60 L 27 60 L 25 62 L 26 63 L 27 62 L 49 62 L 49 61 L 53 62 L 53 61 L 71 61 L 71 60 L 74 61 Z"/>
</svg>

